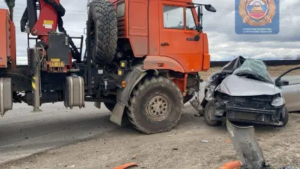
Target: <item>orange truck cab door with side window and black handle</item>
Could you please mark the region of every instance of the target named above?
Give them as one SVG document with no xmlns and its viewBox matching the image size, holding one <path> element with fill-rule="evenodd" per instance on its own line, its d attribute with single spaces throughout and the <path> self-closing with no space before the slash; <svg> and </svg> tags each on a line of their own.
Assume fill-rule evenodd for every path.
<svg viewBox="0 0 300 169">
<path fill-rule="evenodd" d="M 196 30 L 196 12 L 183 2 L 164 2 L 159 10 L 160 55 L 174 58 L 187 73 L 200 71 L 204 60 L 204 42 L 203 33 L 199 35 Z M 199 41 L 194 40 L 196 35 L 200 36 Z"/>
</svg>

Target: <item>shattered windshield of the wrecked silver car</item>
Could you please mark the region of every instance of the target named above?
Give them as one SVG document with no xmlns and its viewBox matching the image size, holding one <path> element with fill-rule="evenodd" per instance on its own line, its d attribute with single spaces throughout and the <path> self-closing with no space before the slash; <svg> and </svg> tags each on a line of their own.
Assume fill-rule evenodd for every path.
<svg viewBox="0 0 300 169">
<path fill-rule="evenodd" d="M 233 74 L 273 84 L 267 71 L 267 66 L 263 61 L 258 59 L 247 58 L 242 66 L 237 68 Z"/>
</svg>

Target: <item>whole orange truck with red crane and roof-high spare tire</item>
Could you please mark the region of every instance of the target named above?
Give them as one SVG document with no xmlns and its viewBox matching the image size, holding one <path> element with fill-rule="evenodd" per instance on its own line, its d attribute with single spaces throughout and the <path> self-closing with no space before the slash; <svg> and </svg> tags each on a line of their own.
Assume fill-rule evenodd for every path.
<svg viewBox="0 0 300 169">
<path fill-rule="evenodd" d="M 82 108 L 92 101 L 112 112 L 113 123 L 131 124 L 146 134 L 165 132 L 177 125 L 183 105 L 199 92 L 199 72 L 210 68 L 201 23 L 203 8 L 216 11 L 209 4 L 88 1 L 82 51 L 84 37 L 70 37 L 63 28 L 65 8 L 59 0 L 27 0 L 20 31 L 27 33 L 28 62 L 16 65 L 15 1 L 6 3 L 9 10 L 0 9 L 0 35 L 6 37 L 0 43 L 1 115 L 13 103 L 39 111 L 46 103 Z"/>
</svg>

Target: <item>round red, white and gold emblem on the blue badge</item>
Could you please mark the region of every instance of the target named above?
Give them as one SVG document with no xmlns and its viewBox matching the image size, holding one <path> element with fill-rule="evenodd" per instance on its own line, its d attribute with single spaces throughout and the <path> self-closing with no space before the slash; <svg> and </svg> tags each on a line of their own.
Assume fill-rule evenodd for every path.
<svg viewBox="0 0 300 169">
<path fill-rule="evenodd" d="M 243 23 L 253 26 L 272 23 L 275 13 L 274 0 L 241 0 L 239 4 L 239 15 L 242 16 Z"/>
</svg>

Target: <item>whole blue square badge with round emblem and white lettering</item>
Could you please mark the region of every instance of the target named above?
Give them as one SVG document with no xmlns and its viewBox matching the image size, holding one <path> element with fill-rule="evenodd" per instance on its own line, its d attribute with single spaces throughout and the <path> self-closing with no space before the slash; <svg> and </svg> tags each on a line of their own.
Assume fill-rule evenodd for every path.
<svg viewBox="0 0 300 169">
<path fill-rule="evenodd" d="M 280 31 L 280 0 L 235 0 L 237 35 L 275 35 Z"/>
</svg>

